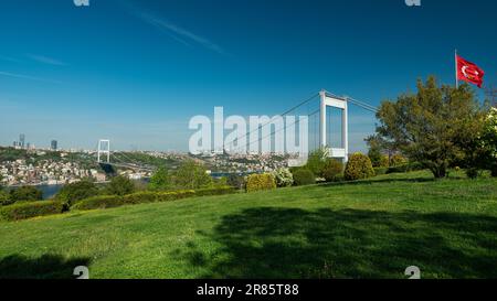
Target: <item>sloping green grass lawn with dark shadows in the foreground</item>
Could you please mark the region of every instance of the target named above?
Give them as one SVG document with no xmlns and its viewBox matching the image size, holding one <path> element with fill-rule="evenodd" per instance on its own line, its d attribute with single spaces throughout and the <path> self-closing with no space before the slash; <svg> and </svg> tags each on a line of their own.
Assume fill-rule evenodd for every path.
<svg viewBox="0 0 497 301">
<path fill-rule="evenodd" d="M 497 278 L 497 180 L 427 172 L 0 223 L 0 278 Z"/>
</svg>

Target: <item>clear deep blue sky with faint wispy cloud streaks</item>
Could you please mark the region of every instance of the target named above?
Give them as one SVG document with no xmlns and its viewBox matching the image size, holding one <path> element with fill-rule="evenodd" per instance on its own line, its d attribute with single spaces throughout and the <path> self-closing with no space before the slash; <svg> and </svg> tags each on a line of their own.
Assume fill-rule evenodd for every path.
<svg viewBox="0 0 497 301">
<path fill-rule="evenodd" d="M 493 0 L 6 0 L 0 144 L 188 150 L 194 115 L 275 115 L 325 88 L 377 106 L 454 50 L 497 84 Z M 483 97 L 483 94 L 478 94 Z M 350 149 L 374 116 L 350 110 Z"/>
</svg>

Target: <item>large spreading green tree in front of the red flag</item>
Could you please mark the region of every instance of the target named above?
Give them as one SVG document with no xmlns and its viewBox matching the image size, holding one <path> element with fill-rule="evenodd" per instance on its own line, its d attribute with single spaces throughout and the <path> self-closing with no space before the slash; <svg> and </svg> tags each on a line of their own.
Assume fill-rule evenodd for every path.
<svg viewBox="0 0 497 301">
<path fill-rule="evenodd" d="M 431 76 L 417 82 L 416 94 L 381 104 L 377 132 L 438 179 L 447 175 L 451 163 L 464 158 L 464 143 L 475 140 L 472 130 L 480 114 L 469 85 L 438 87 Z"/>
</svg>

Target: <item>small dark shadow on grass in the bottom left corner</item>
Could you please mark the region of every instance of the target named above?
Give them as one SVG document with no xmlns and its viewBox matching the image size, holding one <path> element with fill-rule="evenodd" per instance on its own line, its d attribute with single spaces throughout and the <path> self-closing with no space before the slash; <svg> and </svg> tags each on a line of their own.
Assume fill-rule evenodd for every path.
<svg viewBox="0 0 497 301">
<path fill-rule="evenodd" d="M 0 259 L 0 279 L 75 279 L 74 268 L 88 265 L 88 258 L 65 259 L 59 255 L 29 258 L 12 255 Z"/>
</svg>

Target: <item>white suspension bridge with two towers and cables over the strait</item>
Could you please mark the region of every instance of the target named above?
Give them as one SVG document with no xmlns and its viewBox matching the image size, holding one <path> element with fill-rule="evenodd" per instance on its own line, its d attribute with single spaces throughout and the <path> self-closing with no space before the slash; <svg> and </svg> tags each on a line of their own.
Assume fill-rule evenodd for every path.
<svg viewBox="0 0 497 301">
<path fill-rule="evenodd" d="M 296 105 L 277 116 L 286 117 L 295 116 L 297 114 L 306 116 L 308 119 L 307 139 L 309 150 L 327 148 L 330 158 L 340 159 L 343 162 L 347 162 L 349 153 L 349 106 L 357 106 L 371 114 L 378 112 L 378 108 L 366 101 L 320 90 L 319 93 L 315 93 L 310 97 L 298 101 Z M 340 117 L 338 117 L 334 110 L 338 110 Z M 332 129 L 337 127 L 334 127 L 332 123 L 337 123 L 337 121 L 339 121 L 340 132 L 334 135 Z M 265 139 L 273 141 L 279 131 L 285 131 L 292 127 L 299 127 L 300 119 L 296 118 L 293 122 L 285 123 L 283 128 L 274 129 L 269 133 L 258 137 L 258 132 L 262 131 L 264 127 L 271 127 L 273 122 L 274 120 L 271 118 L 268 121 L 261 123 L 256 129 L 247 131 L 245 135 L 239 137 L 236 139 L 236 146 L 230 146 L 230 150 L 236 151 L 237 148 L 248 150 L 250 146 L 253 143 L 257 143 L 258 146 Z M 255 131 L 257 131 L 258 139 L 250 141 L 250 137 Z M 228 146 L 223 144 L 223 148 L 225 147 Z M 213 149 L 212 151 L 214 152 Z M 224 152 L 225 150 L 223 149 L 222 151 Z M 101 139 L 98 141 L 97 163 L 101 164 L 106 172 L 107 170 L 114 170 L 115 168 L 139 171 L 154 171 L 156 169 L 156 166 L 136 162 L 126 155 L 125 152 L 113 152 L 110 150 L 110 140 L 108 139 Z"/>
</svg>

